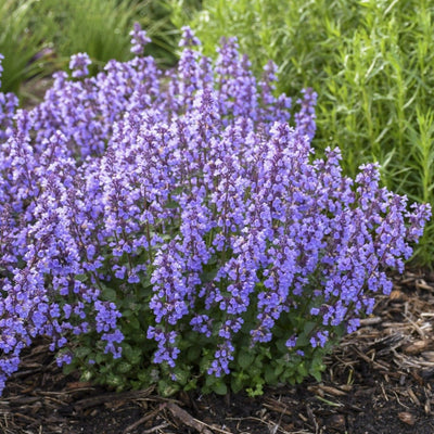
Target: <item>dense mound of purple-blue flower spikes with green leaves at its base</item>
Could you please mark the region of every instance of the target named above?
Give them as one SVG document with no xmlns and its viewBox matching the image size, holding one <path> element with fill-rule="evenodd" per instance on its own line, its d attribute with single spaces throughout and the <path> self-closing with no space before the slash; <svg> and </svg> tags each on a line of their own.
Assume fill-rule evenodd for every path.
<svg viewBox="0 0 434 434">
<path fill-rule="evenodd" d="M 273 64 L 257 81 L 235 40 L 215 65 L 197 44 L 186 28 L 169 73 L 86 78 L 77 54 L 28 112 L 1 94 L 0 390 L 37 335 L 118 388 L 301 381 L 403 270 L 429 206 L 312 161 L 316 94 L 290 127 Z"/>
</svg>

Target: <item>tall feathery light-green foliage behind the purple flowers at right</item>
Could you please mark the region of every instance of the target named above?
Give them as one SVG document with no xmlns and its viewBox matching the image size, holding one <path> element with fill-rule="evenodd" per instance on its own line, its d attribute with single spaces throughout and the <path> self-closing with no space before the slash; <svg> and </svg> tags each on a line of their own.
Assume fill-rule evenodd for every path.
<svg viewBox="0 0 434 434">
<path fill-rule="evenodd" d="M 257 75 L 271 59 L 279 91 L 314 87 L 319 94 L 318 150 L 340 146 L 354 176 L 382 164 L 384 183 L 434 203 L 434 3 L 427 0 L 204 0 L 174 23 L 190 25 L 213 55 L 222 36 L 237 36 Z M 434 221 L 416 251 L 432 266 Z"/>
</svg>

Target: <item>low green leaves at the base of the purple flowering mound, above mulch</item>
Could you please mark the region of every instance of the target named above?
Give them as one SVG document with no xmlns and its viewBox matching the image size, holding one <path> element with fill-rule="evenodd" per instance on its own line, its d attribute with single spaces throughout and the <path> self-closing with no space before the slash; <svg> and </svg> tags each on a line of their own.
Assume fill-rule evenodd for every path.
<svg viewBox="0 0 434 434">
<path fill-rule="evenodd" d="M 125 264 L 127 260 L 125 258 Z M 326 346 L 314 348 L 310 337 L 322 327 L 322 318 L 307 314 L 312 305 L 310 298 L 304 294 L 297 299 L 299 308 L 277 321 L 273 339 L 266 345 L 250 346 L 250 329 L 256 318 L 252 312 L 246 314 L 243 329 L 233 339 L 235 352 L 229 366 L 229 375 L 217 378 L 207 374 L 215 348 L 209 339 L 192 330 L 181 333 L 182 339 L 177 342 L 180 349 L 177 365 L 170 369 L 165 363 L 151 362 L 156 343 L 145 336 L 149 326 L 153 324 L 153 315 L 149 307 L 153 294 L 152 285 L 142 282 L 136 284 L 133 291 L 129 291 L 116 278 L 110 286 L 101 282 L 100 285 L 103 298 L 116 303 L 123 314 L 118 322 L 126 337 L 122 344 L 123 356 L 113 359 L 111 354 L 104 354 L 104 344 L 98 339 L 97 332 L 91 332 L 74 337 L 73 362 L 64 369 L 66 373 L 78 369 L 84 381 L 91 380 L 116 391 L 145 388 L 156 384 L 163 396 L 197 387 L 203 393 L 225 395 L 228 391 L 245 391 L 250 396 L 257 396 L 264 393 L 265 385 L 296 384 L 309 375 L 319 381 L 326 368 L 324 356 L 344 334 L 344 326 L 330 326 L 330 339 Z M 200 306 L 196 308 L 201 309 Z M 215 322 L 213 334 L 218 340 L 217 331 L 222 314 L 218 307 L 209 314 L 213 318 L 220 318 Z M 298 339 L 296 347 L 289 349 L 286 341 L 291 334 L 298 334 Z M 69 352 L 71 348 L 66 350 Z"/>
</svg>

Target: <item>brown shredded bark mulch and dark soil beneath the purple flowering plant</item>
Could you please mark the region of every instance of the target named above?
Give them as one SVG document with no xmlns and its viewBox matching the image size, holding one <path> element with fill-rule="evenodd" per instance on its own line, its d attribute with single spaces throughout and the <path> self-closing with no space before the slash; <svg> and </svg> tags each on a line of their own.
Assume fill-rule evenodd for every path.
<svg viewBox="0 0 434 434">
<path fill-rule="evenodd" d="M 327 359 L 322 382 L 260 397 L 152 390 L 115 394 L 65 376 L 35 345 L 0 397 L 2 434 L 432 434 L 434 275 L 396 278 L 391 297 Z"/>
</svg>

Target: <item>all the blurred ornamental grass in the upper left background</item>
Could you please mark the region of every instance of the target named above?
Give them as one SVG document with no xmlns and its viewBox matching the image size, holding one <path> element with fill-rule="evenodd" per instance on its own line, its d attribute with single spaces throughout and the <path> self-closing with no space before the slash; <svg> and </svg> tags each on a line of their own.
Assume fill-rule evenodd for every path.
<svg viewBox="0 0 434 434">
<path fill-rule="evenodd" d="M 0 1 L 0 53 L 5 58 L 1 91 L 21 93 L 29 79 L 66 69 L 78 52 L 91 58 L 92 74 L 111 59 L 132 59 L 129 31 L 135 22 L 152 37 L 145 54 L 170 66 L 177 59 L 178 31 L 169 17 L 165 0 Z M 26 89 L 35 99 L 31 86 Z"/>
</svg>

